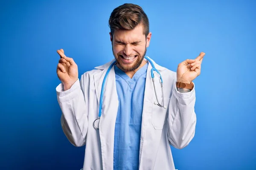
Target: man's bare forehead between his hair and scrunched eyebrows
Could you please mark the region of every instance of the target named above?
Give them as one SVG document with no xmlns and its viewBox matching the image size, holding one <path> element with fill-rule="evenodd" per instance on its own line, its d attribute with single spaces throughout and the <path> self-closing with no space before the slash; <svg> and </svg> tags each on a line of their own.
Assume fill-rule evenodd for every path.
<svg viewBox="0 0 256 170">
<path fill-rule="evenodd" d="M 115 31 L 113 34 L 113 39 L 123 42 L 142 41 L 145 39 L 145 35 L 143 34 L 143 26 L 138 25 L 133 30 Z"/>
</svg>

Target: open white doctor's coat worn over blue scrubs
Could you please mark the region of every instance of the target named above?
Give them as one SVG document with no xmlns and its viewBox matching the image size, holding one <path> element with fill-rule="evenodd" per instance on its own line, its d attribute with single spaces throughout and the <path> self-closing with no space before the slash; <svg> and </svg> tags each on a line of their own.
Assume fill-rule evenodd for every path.
<svg viewBox="0 0 256 170">
<path fill-rule="evenodd" d="M 64 134 L 74 146 L 86 145 L 84 170 L 113 170 L 114 130 L 119 104 L 114 67 L 105 83 L 99 130 L 93 127 L 93 121 L 98 118 L 102 82 L 111 62 L 85 72 L 80 81 L 78 79 L 67 91 L 64 91 L 62 83 L 56 88 Z M 149 63 L 143 102 L 139 168 L 175 170 L 170 144 L 181 149 L 195 135 L 195 87 L 187 93 L 178 92 L 176 73 L 152 62 L 163 78 L 167 109 L 154 104 L 156 97 Z M 155 80 L 161 103 L 161 88 L 157 77 Z"/>
</svg>

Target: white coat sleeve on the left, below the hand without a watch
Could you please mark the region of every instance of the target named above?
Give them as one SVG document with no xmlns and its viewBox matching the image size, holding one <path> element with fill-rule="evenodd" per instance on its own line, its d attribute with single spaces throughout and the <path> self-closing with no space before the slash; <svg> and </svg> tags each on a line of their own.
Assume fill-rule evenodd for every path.
<svg viewBox="0 0 256 170">
<path fill-rule="evenodd" d="M 84 146 L 86 143 L 88 113 L 84 82 L 89 82 L 87 79 L 86 74 L 83 74 L 81 80 L 77 79 L 67 91 L 64 91 L 62 83 L 56 87 L 57 99 L 62 111 L 61 127 L 67 139 L 76 147 Z"/>
</svg>

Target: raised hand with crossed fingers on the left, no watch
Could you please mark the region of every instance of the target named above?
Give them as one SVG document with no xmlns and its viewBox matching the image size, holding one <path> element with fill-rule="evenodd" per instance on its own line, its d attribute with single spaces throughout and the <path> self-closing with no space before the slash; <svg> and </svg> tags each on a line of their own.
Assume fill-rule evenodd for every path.
<svg viewBox="0 0 256 170">
<path fill-rule="evenodd" d="M 61 57 L 57 66 L 57 75 L 64 85 L 64 91 L 66 91 L 78 79 L 78 67 L 72 58 L 65 56 L 63 49 L 57 50 L 57 53 Z"/>
</svg>

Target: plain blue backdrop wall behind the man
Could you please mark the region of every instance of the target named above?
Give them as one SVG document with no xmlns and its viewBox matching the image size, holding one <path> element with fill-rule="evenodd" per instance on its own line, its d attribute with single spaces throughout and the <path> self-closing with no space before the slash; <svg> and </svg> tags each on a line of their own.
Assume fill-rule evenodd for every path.
<svg viewBox="0 0 256 170">
<path fill-rule="evenodd" d="M 113 59 L 108 19 L 124 0 L 0 2 L 0 169 L 80 170 L 84 147 L 61 129 L 57 49 L 85 71 Z M 256 169 L 256 3 L 134 1 L 148 14 L 147 55 L 176 71 L 206 53 L 195 79 L 197 127 L 172 147 L 179 170 Z"/>
</svg>

